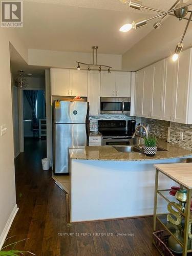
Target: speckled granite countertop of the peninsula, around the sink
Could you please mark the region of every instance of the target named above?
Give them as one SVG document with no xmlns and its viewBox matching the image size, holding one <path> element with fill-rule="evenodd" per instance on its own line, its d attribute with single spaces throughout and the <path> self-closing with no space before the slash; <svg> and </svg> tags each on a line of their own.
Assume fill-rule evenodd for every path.
<svg viewBox="0 0 192 256">
<path fill-rule="evenodd" d="M 158 140 L 157 145 L 167 151 L 157 152 L 154 157 L 147 157 L 144 154 L 139 154 L 139 152 L 118 152 L 113 146 L 85 146 L 83 148 L 72 148 L 69 150 L 69 153 L 71 159 L 103 161 L 160 160 L 192 155 L 191 151 L 184 150 L 183 148 L 167 143 L 164 140 Z"/>
</svg>

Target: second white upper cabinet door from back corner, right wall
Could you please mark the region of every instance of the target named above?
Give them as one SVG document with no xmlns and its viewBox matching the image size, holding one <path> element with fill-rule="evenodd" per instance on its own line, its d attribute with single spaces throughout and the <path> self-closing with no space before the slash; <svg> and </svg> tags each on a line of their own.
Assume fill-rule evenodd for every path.
<svg viewBox="0 0 192 256">
<path fill-rule="evenodd" d="M 142 99 L 142 117 L 151 116 L 152 108 L 152 90 L 153 90 L 153 78 L 154 67 L 149 66 L 144 69 L 144 86 L 143 86 L 143 99 Z"/>
</svg>

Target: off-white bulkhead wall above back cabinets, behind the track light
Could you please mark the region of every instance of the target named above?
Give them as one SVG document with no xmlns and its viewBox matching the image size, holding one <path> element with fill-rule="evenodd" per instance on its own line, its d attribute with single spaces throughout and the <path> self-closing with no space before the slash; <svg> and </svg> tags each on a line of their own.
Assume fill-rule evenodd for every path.
<svg viewBox="0 0 192 256">
<path fill-rule="evenodd" d="M 48 50 L 28 50 L 28 64 L 54 68 L 76 68 L 76 61 L 90 63 L 91 53 L 58 52 Z M 109 65 L 112 70 L 121 70 L 122 56 L 116 54 L 99 54 L 97 63 Z"/>
</svg>

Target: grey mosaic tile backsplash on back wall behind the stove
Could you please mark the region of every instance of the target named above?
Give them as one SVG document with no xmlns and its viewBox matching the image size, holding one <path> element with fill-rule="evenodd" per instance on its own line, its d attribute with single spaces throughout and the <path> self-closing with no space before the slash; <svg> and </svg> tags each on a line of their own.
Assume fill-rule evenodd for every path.
<svg viewBox="0 0 192 256">
<path fill-rule="evenodd" d="M 90 120 L 90 131 L 98 131 L 98 120 L 131 120 L 135 119 L 134 116 L 127 116 L 127 115 L 109 115 L 109 114 L 102 114 L 99 116 L 89 116 Z"/>
</svg>

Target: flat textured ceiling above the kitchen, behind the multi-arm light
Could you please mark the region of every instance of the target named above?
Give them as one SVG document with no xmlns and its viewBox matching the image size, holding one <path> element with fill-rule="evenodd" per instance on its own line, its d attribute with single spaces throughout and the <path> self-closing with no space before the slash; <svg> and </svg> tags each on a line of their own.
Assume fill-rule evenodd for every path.
<svg viewBox="0 0 192 256">
<path fill-rule="evenodd" d="M 175 0 L 143 0 L 167 10 Z M 24 27 L 17 31 L 28 49 L 123 54 L 153 30 L 153 23 L 129 33 L 119 28 L 156 12 L 135 10 L 119 0 L 25 0 Z"/>
</svg>

